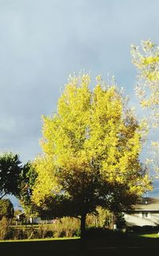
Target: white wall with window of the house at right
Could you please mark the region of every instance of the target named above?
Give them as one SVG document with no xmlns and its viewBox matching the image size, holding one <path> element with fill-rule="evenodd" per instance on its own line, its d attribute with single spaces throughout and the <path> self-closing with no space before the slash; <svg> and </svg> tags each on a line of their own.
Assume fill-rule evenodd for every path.
<svg viewBox="0 0 159 256">
<path fill-rule="evenodd" d="M 126 224 L 128 226 L 157 226 L 159 225 L 159 213 L 151 213 L 145 215 L 145 212 L 134 214 L 125 214 Z"/>
</svg>

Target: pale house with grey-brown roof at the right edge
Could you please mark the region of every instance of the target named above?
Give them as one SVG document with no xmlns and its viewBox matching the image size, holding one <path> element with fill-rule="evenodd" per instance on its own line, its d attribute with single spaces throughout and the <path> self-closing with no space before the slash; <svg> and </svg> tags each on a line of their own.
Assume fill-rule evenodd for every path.
<svg viewBox="0 0 159 256">
<path fill-rule="evenodd" d="M 158 226 L 159 198 L 144 197 L 124 214 L 127 226 Z"/>
</svg>

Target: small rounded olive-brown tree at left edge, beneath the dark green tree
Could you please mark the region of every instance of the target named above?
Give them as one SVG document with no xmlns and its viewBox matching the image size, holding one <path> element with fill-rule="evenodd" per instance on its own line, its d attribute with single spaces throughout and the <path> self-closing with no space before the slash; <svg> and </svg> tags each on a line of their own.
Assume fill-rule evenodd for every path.
<svg viewBox="0 0 159 256">
<path fill-rule="evenodd" d="M 11 219 L 14 217 L 14 206 L 9 199 L 0 200 L 0 219 L 6 217 Z"/>
</svg>

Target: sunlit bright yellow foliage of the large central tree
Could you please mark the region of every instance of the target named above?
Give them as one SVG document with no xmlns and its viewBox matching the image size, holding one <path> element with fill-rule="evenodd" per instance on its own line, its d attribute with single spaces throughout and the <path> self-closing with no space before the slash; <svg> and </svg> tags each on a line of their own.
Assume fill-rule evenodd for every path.
<svg viewBox="0 0 159 256">
<path fill-rule="evenodd" d="M 88 74 L 71 76 L 57 113 L 43 117 L 44 157 L 35 161 L 38 178 L 33 192 L 38 204 L 53 193 L 71 196 L 73 189 L 87 188 L 95 175 L 100 182 L 126 184 L 138 195 L 149 188 L 149 177 L 142 173 L 138 161 L 140 126 L 126 110 L 118 88 L 103 88 L 100 76 L 97 81 L 91 91 Z"/>
</svg>

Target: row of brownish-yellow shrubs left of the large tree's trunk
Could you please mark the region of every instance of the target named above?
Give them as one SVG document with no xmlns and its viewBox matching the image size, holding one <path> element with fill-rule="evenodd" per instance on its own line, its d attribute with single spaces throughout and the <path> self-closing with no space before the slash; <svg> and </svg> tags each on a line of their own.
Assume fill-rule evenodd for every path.
<svg viewBox="0 0 159 256">
<path fill-rule="evenodd" d="M 1 222 L 0 239 L 45 239 L 80 235 L 80 220 L 70 217 L 56 219 L 52 224 L 39 224 L 36 227 L 27 225 L 9 227 L 10 223 L 6 218 L 3 218 Z"/>
</svg>

